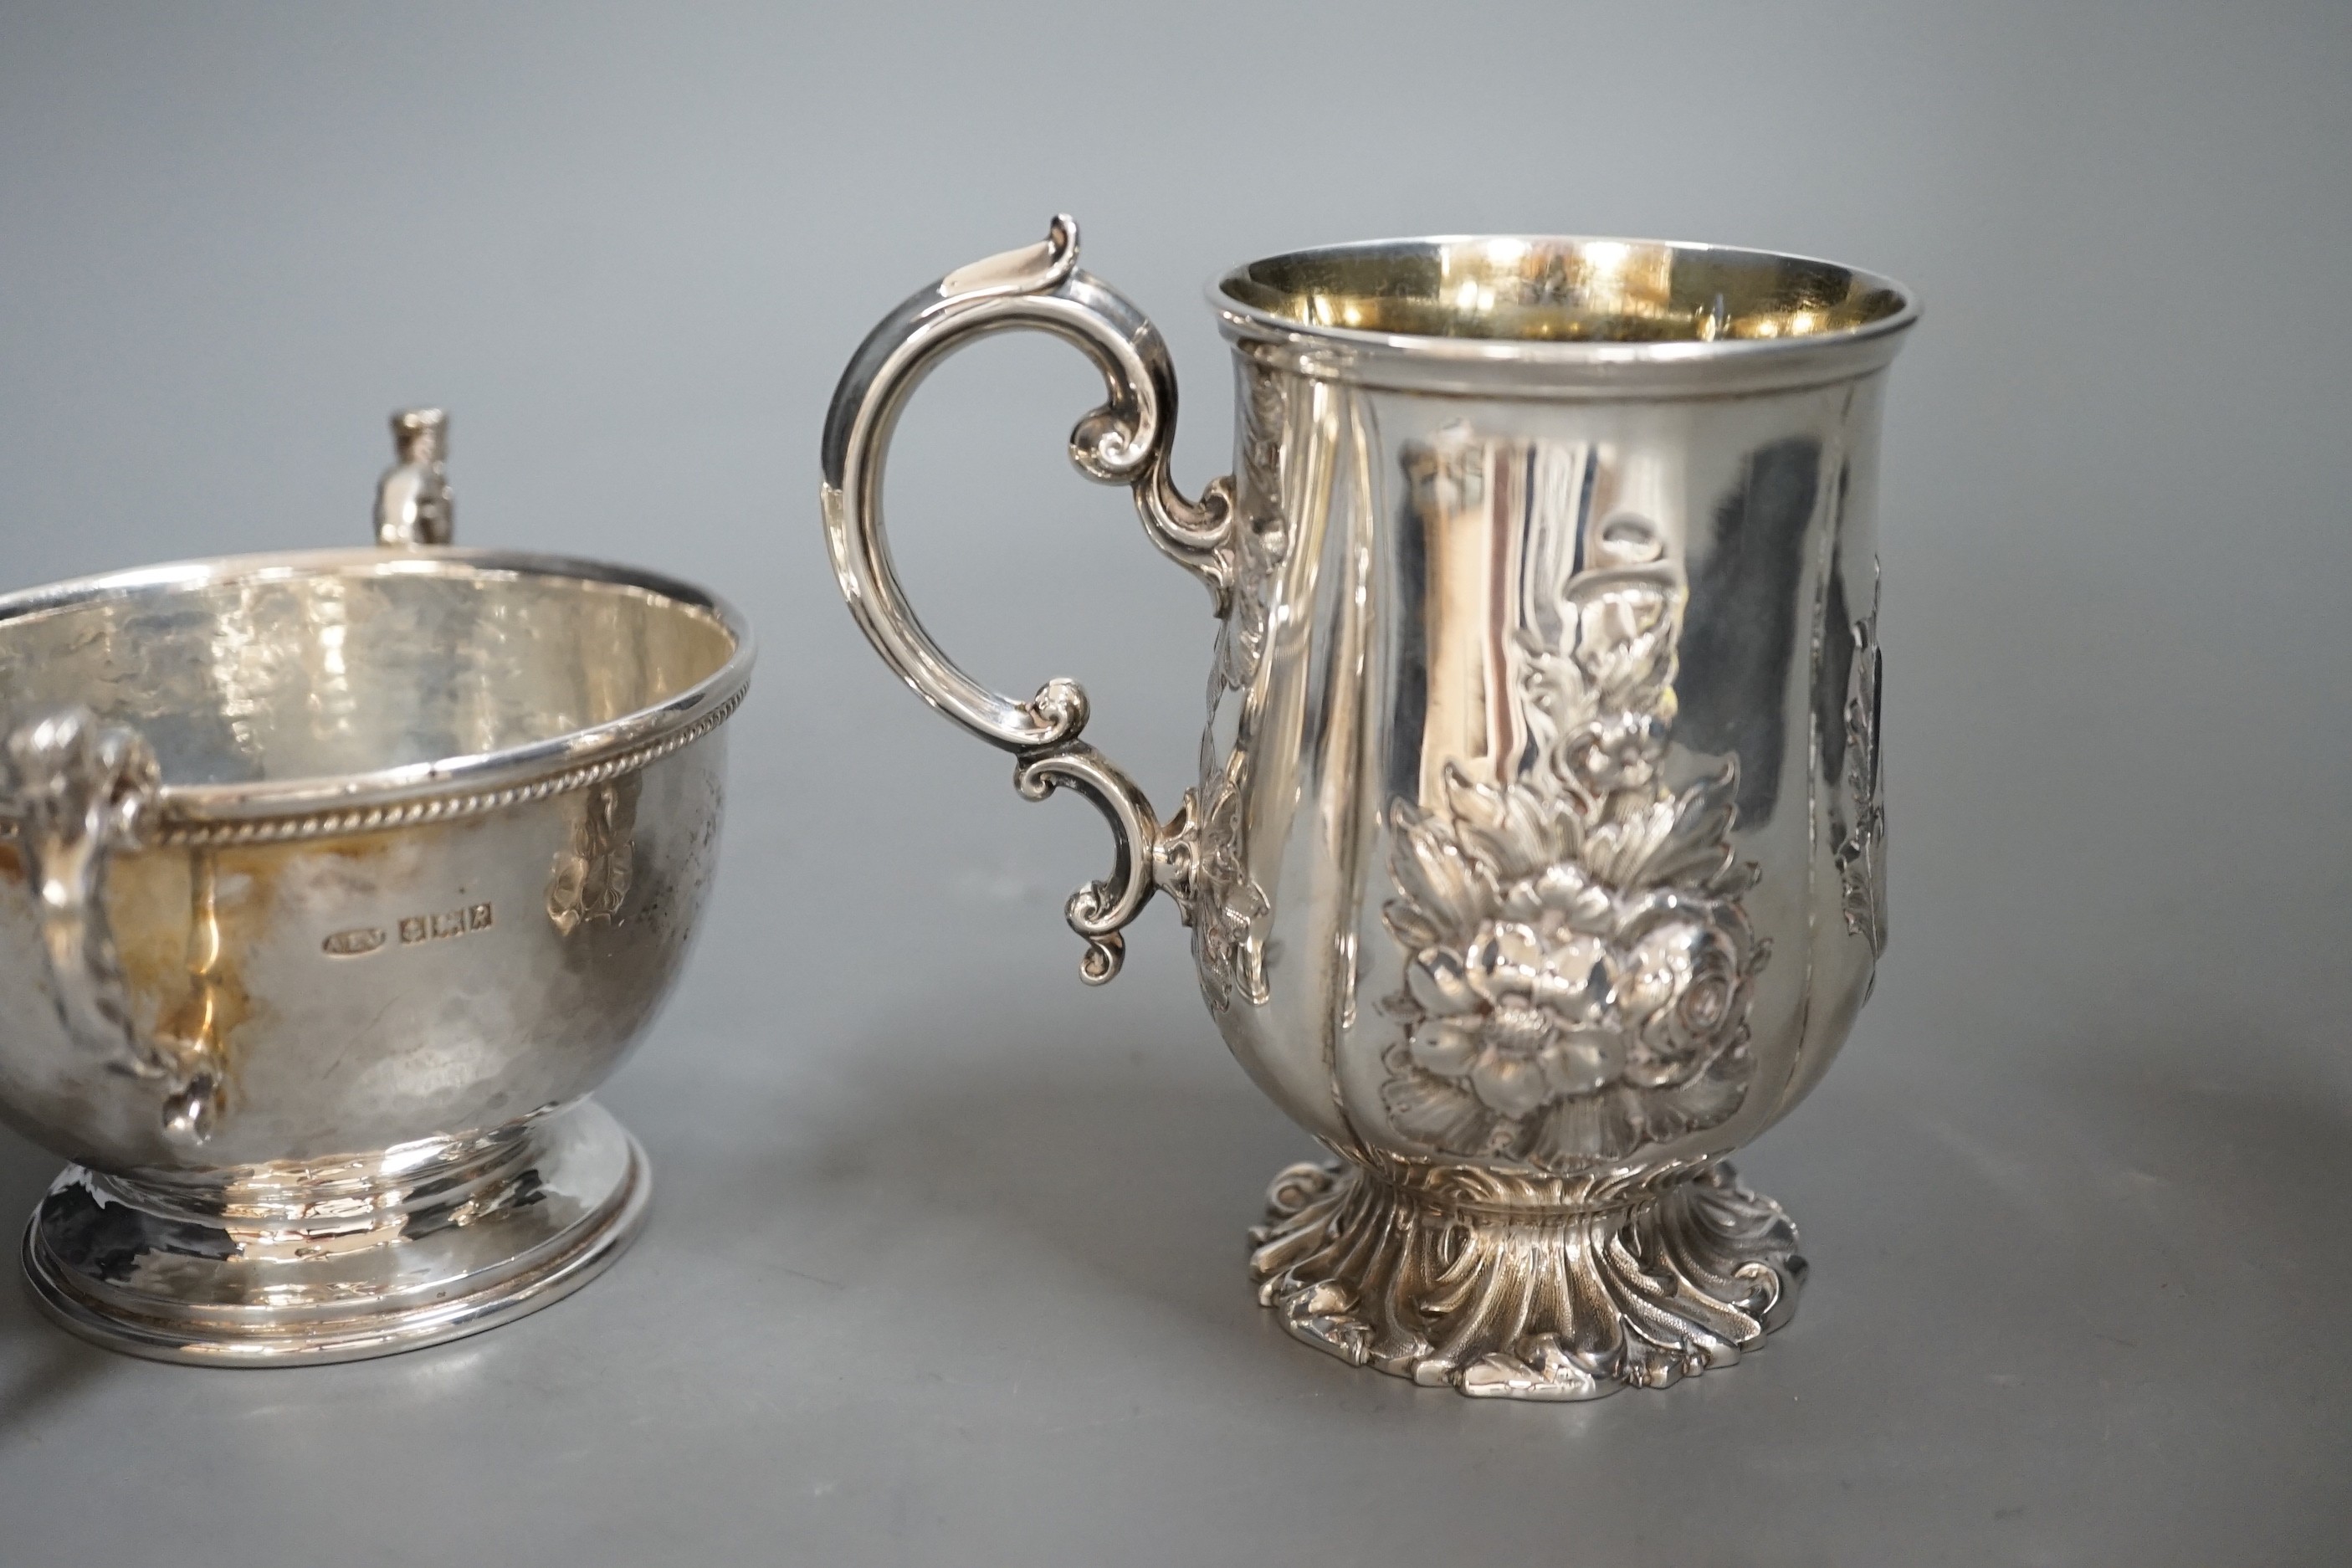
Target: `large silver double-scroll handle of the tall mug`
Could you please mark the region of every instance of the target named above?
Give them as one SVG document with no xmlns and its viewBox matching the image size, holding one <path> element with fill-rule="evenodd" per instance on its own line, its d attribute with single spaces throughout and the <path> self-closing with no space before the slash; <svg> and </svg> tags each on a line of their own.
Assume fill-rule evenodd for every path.
<svg viewBox="0 0 2352 1568">
<path fill-rule="evenodd" d="M 1091 480 L 1127 484 L 1143 531 L 1176 564 L 1209 583 L 1218 614 L 1232 592 L 1232 482 L 1214 480 L 1185 501 L 1169 477 L 1176 442 L 1176 369 L 1160 329 L 1117 289 L 1077 270 L 1077 221 L 1056 216 L 1040 244 L 988 256 L 922 289 L 877 324 L 833 393 L 823 440 L 826 543 L 858 628 L 884 663 L 927 703 L 990 745 L 1009 750 L 1014 788 L 1044 799 L 1058 785 L 1091 799 L 1110 823 L 1110 877 L 1070 896 L 1070 929 L 1087 943 L 1080 973 L 1101 985 L 1120 973 L 1120 931 L 1152 891 L 1183 903 L 1190 875 L 1190 809 L 1167 825 L 1143 790 L 1080 741 L 1087 691 L 1049 679 L 1023 701 L 964 675 L 915 618 L 882 534 L 882 470 L 906 400 L 950 353 L 995 331 L 1049 331 L 1103 374 L 1108 400 L 1077 421 L 1070 461 Z M 1190 797 L 1188 797 L 1190 806 Z"/>
</svg>

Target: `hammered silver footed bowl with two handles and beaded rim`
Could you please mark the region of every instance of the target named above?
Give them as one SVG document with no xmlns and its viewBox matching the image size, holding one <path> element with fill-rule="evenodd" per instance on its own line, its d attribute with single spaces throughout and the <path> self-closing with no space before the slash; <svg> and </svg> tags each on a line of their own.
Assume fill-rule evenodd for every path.
<svg viewBox="0 0 2352 1568">
<path fill-rule="evenodd" d="M 750 635 L 449 548 L 442 418 L 393 428 L 374 548 L 0 597 L 0 1117 L 75 1161 L 33 1291 L 115 1349 L 475 1333 L 644 1213 L 588 1091 L 694 938 Z"/>
</svg>

